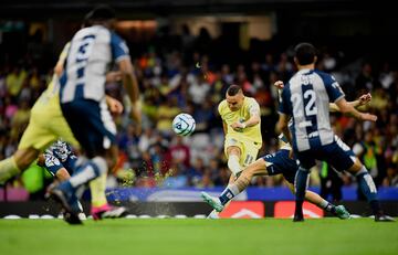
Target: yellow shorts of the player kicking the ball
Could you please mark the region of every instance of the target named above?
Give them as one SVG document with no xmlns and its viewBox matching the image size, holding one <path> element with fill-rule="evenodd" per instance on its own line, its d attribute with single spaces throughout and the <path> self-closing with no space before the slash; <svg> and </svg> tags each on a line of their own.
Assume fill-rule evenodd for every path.
<svg viewBox="0 0 398 255">
<path fill-rule="evenodd" d="M 233 137 L 227 137 L 224 141 L 224 153 L 227 158 L 228 158 L 227 149 L 228 147 L 231 146 L 235 146 L 240 149 L 241 157 L 239 159 L 239 164 L 242 168 L 248 167 L 250 163 L 256 160 L 259 150 L 261 148 L 261 144 L 259 145 L 258 142 L 251 140 L 241 141 Z"/>
</svg>

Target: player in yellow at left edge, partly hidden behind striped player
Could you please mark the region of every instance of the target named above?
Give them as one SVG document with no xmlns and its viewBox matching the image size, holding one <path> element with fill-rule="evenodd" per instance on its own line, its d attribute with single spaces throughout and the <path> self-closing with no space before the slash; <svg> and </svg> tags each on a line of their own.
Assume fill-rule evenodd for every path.
<svg viewBox="0 0 398 255">
<path fill-rule="evenodd" d="M 57 75 L 62 72 L 66 51 L 67 44 L 54 67 L 54 75 L 48 88 L 31 109 L 29 125 L 18 145 L 18 150 L 13 156 L 0 161 L 0 183 L 25 170 L 38 158 L 39 153 L 57 138 L 62 137 L 78 148 L 78 142 L 74 139 L 60 107 Z"/>
</svg>

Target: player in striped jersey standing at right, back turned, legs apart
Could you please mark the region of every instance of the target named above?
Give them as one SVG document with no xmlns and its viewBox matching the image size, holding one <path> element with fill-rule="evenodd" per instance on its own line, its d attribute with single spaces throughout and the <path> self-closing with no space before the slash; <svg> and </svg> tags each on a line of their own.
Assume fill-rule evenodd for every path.
<svg viewBox="0 0 398 255">
<path fill-rule="evenodd" d="M 300 168 L 295 177 L 295 212 L 293 221 L 304 221 L 303 201 L 308 183 L 310 169 L 315 160 L 324 160 L 337 171 L 348 171 L 357 178 L 358 185 L 367 198 L 375 221 L 394 221 L 380 209 L 377 189 L 371 176 L 354 156 L 350 148 L 336 139 L 329 120 L 329 102 L 335 103 L 343 114 L 349 114 L 359 120 L 376 121 L 377 116 L 356 110 L 344 98 L 345 95 L 335 81 L 326 73 L 315 70 L 316 49 L 310 43 L 300 43 L 295 47 L 294 62 L 297 73 L 284 86 L 277 129 L 292 145 Z M 291 127 L 289 120 L 292 118 Z"/>
</svg>

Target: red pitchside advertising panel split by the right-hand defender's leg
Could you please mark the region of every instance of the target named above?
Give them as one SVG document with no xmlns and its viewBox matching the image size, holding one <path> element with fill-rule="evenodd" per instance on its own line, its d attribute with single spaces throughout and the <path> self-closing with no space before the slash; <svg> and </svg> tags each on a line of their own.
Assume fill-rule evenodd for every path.
<svg viewBox="0 0 398 255">
<path fill-rule="evenodd" d="M 294 201 L 276 202 L 274 208 L 274 217 L 293 217 L 294 209 L 295 209 Z M 304 202 L 303 214 L 304 217 L 323 217 L 324 211 L 312 203 Z"/>
</svg>

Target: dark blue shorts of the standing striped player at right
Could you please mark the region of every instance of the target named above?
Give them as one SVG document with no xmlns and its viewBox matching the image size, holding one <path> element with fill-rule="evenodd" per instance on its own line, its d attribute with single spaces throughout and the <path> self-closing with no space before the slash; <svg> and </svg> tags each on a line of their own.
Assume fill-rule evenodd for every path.
<svg viewBox="0 0 398 255">
<path fill-rule="evenodd" d="M 331 164 L 337 171 L 345 171 L 353 167 L 356 156 L 353 150 L 344 144 L 338 137 L 326 146 L 311 148 L 305 151 L 295 151 L 300 166 L 311 169 L 315 166 L 315 160 L 323 160 Z"/>
</svg>

